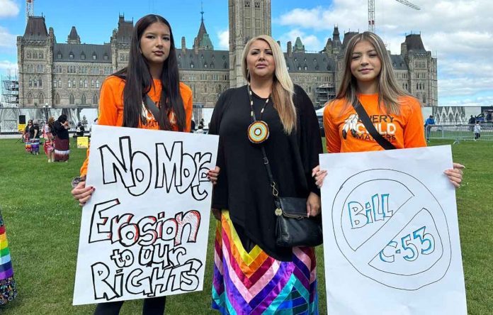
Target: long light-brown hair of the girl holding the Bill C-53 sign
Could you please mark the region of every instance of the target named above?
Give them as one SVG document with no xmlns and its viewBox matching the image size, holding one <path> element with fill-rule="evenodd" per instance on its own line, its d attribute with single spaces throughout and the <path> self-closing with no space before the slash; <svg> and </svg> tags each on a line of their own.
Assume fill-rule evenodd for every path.
<svg viewBox="0 0 493 315">
<path fill-rule="evenodd" d="M 363 40 L 368 40 L 368 42 L 375 47 L 382 65 L 380 73 L 378 74 L 378 106 L 382 106 L 388 114 L 399 114 L 399 96 L 410 96 L 410 94 L 397 84 L 392 69 L 392 62 L 390 61 L 390 55 L 385 49 L 385 44 L 382 39 L 375 33 L 368 31 L 356 34 L 349 40 L 346 54 L 344 55 L 344 74 L 341 79 L 341 85 L 339 86 L 336 99 L 346 99 L 347 104 L 345 109 L 356 101 L 358 84 L 356 78 L 353 77 L 353 74 L 351 73 L 351 57 L 353 56 L 356 44 Z"/>
</svg>

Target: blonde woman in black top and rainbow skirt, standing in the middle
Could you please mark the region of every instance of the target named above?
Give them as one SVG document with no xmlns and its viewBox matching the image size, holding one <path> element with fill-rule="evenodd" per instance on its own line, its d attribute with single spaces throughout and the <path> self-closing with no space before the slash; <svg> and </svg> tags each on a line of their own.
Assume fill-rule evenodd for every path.
<svg viewBox="0 0 493 315">
<path fill-rule="evenodd" d="M 322 152 L 317 116 L 270 36 L 246 43 L 242 70 L 247 84 L 222 93 L 210 121 L 209 133 L 220 136 L 221 169 L 212 197 L 212 307 L 222 314 L 317 314 L 314 248 L 276 243 L 274 197 L 305 198 L 306 214 L 319 214 L 311 176 Z"/>
</svg>

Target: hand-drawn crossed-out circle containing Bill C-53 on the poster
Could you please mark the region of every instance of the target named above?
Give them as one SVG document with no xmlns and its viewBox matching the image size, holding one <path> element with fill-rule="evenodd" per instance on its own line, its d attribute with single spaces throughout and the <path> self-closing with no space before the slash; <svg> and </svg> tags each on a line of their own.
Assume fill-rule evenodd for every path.
<svg viewBox="0 0 493 315">
<path fill-rule="evenodd" d="M 336 194 L 332 216 L 339 250 L 365 277 L 413 290 L 440 280 L 448 270 L 446 216 L 411 175 L 380 169 L 349 177 Z"/>
</svg>

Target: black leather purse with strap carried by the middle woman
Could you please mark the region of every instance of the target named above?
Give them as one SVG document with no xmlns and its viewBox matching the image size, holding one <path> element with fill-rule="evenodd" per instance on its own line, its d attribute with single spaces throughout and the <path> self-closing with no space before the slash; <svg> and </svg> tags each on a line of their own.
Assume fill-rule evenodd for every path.
<svg viewBox="0 0 493 315">
<path fill-rule="evenodd" d="M 271 182 L 276 204 L 276 245 L 280 247 L 317 246 L 322 244 L 322 216 L 307 216 L 307 199 L 279 197 L 276 181 L 272 175 L 266 150 L 261 146 L 263 165 Z"/>
</svg>

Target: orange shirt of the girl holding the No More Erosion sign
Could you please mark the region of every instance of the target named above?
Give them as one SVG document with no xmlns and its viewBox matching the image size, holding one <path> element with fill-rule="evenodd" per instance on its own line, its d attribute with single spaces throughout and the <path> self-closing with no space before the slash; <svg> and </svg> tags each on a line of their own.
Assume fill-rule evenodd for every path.
<svg viewBox="0 0 493 315">
<path fill-rule="evenodd" d="M 151 88 L 149 97 L 156 103 L 159 108 L 159 98 L 161 96 L 161 80 L 154 79 L 154 87 Z M 110 76 L 106 78 L 101 86 L 101 93 L 99 99 L 99 116 L 98 125 L 104 126 L 123 126 L 123 88 L 125 87 L 125 80 L 119 77 Z M 190 132 L 193 110 L 193 97 L 192 90 L 186 84 L 180 82 L 180 94 L 183 100 L 183 106 L 185 107 L 185 128 L 183 132 Z M 143 109 L 147 118 L 147 123 L 139 123 L 138 128 L 143 129 L 159 129 L 159 123 L 157 123 L 152 113 Z M 171 114 L 173 115 L 173 114 Z M 171 118 L 172 121 L 172 118 Z M 173 131 L 178 131 L 178 125 L 172 124 Z M 87 157 L 81 167 L 81 176 L 87 174 L 87 164 L 89 162 L 89 149 L 87 150 Z"/>
</svg>

